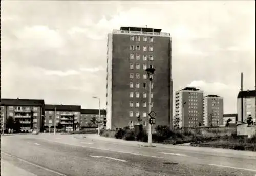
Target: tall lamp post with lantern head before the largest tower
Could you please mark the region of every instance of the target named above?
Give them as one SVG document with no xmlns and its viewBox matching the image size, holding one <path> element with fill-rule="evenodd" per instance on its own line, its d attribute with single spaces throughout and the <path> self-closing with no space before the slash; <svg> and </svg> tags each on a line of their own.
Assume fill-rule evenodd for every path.
<svg viewBox="0 0 256 176">
<path fill-rule="evenodd" d="M 152 65 L 150 65 L 150 68 L 146 69 L 147 75 L 148 75 L 148 79 L 149 79 L 149 86 L 148 86 L 148 113 L 151 112 L 151 82 L 152 82 L 152 78 L 153 78 L 153 74 L 155 72 L 156 69 L 152 68 Z M 148 117 L 148 121 L 149 121 L 150 117 Z M 152 124 L 148 123 L 148 145 L 149 147 L 152 147 Z"/>
</svg>

